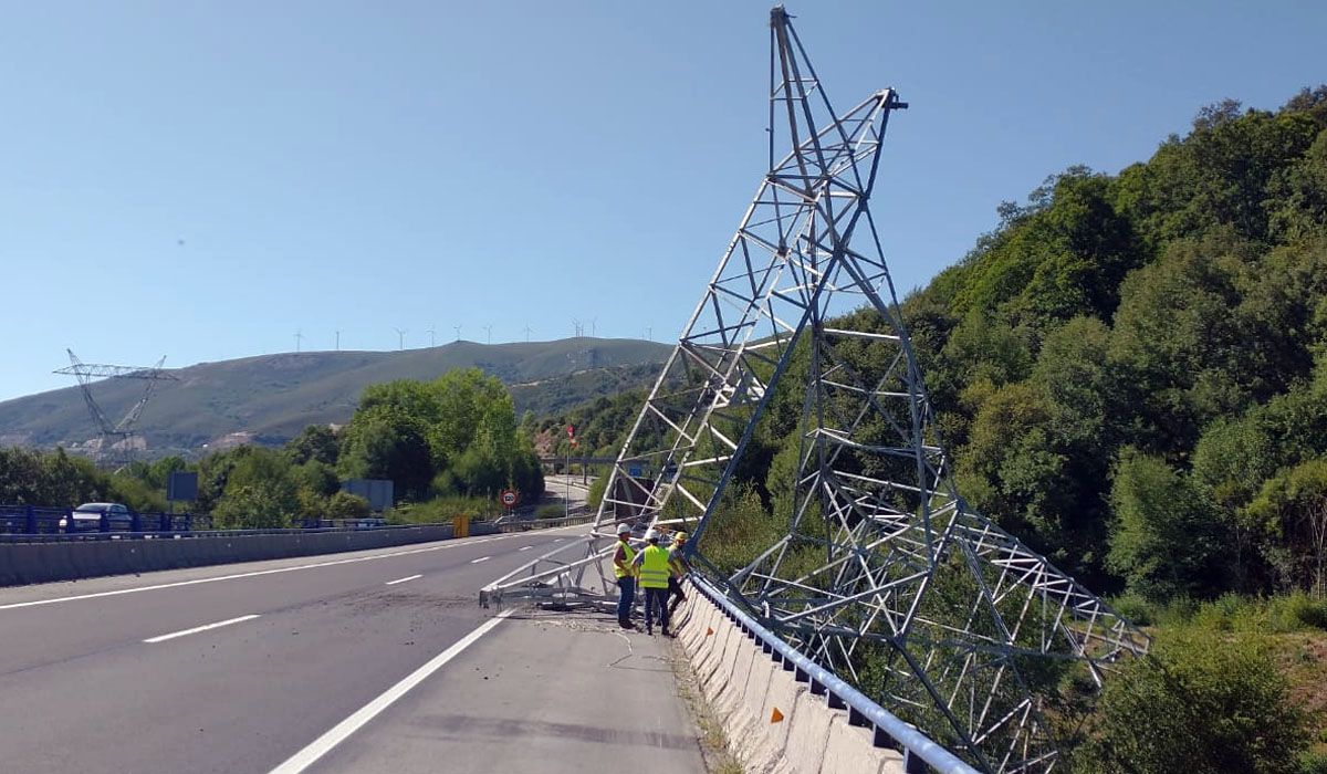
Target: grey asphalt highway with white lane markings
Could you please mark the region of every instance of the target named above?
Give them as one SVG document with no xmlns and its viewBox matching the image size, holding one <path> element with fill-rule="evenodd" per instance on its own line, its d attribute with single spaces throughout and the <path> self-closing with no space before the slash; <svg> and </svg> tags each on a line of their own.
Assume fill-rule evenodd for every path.
<svg viewBox="0 0 1327 774">
<path fill-rule="evenodd" d="M 662 770 L 701 770 L 670 692 L 634 702 L 640 718 L 604 705 L 604 717 L 567 722 L 576 710 L 563 704 L 602 689 L 557 688 L 564 665 L 587 647 L 601 661 L 641 658 L 656 647 L 644 635 L 633 645 L 593 623 L 495 621 L 476 605 L 480 585 L 584 530 L 0 589 L 0 770 L 499 771 L 508 755 L 553 771 L 531 767 L 540 739 L 610 761 L 642 738 L 673 761 Z M 652 658 L 633 680 L 666 685 Z M 421 716 L 431 730 L 413 725 Z M 410 728 L 409 743 L 394 735 Z M 531 747 L 490 743 L 520 737 Z"/>
</svg>

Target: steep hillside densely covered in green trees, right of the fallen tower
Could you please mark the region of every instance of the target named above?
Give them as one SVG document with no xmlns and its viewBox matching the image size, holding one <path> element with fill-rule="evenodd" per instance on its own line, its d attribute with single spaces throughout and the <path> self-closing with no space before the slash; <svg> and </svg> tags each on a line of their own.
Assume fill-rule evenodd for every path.
<svg viewBox="0 0 1327 774">
<path fill-rule="evenodd" d="M 1327 89 L 1071 169 L 904 304 L 973 506 L 1100 589 L 1320 593 Z"/>
</svg>

